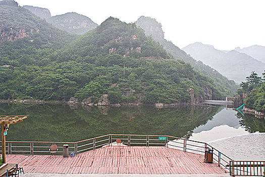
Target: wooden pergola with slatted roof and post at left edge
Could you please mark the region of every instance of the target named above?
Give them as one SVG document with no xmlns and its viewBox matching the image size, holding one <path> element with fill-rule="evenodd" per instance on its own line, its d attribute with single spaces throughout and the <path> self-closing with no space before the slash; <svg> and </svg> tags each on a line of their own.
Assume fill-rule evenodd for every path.
<svg viewBox="0 0 265 177">
<path fill-rule="evenodd" d="M 7 162 L 6 159 L 6 135 L 10 124 L 22 122 L 27 118 L 27 115 L 0 115 L 1 131 L 2 131 L 2 158 L 3 163 Z"/>
</svg>

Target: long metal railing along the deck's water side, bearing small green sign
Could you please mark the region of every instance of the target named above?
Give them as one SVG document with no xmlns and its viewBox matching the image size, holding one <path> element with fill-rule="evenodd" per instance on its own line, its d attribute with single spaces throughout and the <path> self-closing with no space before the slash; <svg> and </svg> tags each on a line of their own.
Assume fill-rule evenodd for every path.
<svg viewBox="0 0 265 177">
<path fill-rule="evenodd" d="M 167 137 L 166 140 L 158 140 L 158 137 Z M 52 144 L 57 144 L 58 154 L 63 154 L 63 144 L 69 145 L 69 153 L 79 154 L 89 150 L 95 150 L 105 145 L 111 146 L 111 143 L 119 139 L 127 146 L 166 146 L 174 149 L 183 150 L 184 152 L 194 152 L 204 154 L 206 148 L 210 147 L 214 150 L 214 160 L 218 166 L 223 166 L 229 170 L 229 161 L 231 158 L 221 153 L 207 143 L 187 140 L 183 138 L 167 136 L 167 135 L 123 135 L 110 134 L 100 137 L 95 137 L 78 142 L 30 142 L 30 141 L 7 141 L 7 154 L 49 154 L 49 147 Z M 1 147 L 1 146 L 0 146 Z M 1 147 L 2 148 L 2 147 Z"/>
</svg>

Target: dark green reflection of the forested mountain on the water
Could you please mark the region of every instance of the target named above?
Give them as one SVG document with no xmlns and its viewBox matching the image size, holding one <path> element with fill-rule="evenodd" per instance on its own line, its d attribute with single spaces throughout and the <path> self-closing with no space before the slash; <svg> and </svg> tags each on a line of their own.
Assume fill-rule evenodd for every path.
<svg viewBox="0 0 265 177">
<path fill-rule="evenodd" d="M 107 134 L 172 135 L 189 138 L 196 127 L 197 132 L 198 128 L 207 121 L 210 122 L 224 109 L 224 106 L 179 106 L 163 109 L 153 106 L 78 106 L 70 109 L 68 105 L 52 104 L 0 106 L 0 115 L 28 115 L 23 122 L 10 126 L 7 141 L 59 142 L 75 142 Z M 236 117 L 235 114 L 233 116 Z M 239 123 L 240 121 L 238 119 Z M 240 126 L 239 123 L 234 122 L 232 126 Z M 210 127 L 206 124 L 201 130 L 207 128 Z"/>
</svg>

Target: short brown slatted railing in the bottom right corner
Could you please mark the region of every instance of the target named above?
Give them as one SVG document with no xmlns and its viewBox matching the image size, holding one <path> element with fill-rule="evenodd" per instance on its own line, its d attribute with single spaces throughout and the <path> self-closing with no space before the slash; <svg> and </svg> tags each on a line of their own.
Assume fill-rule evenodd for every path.
<svg viewBox="0 0 265 177">
<path fill-rule="evenodd" d="M 229 163 L 232 176 L 265 176 L 265 161 L 238 161 Z"/>
</svg>

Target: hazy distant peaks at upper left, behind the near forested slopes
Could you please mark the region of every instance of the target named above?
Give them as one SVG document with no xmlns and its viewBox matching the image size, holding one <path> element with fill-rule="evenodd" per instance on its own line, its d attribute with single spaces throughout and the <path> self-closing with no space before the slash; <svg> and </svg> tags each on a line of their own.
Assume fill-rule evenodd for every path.
<svg viewBox="0 0 265 177">
<path fill-rule="evenodd" d="M 23 6 L 23 8 L 30 10 L 33 14 L 45 19 L 48 23 L 51 23 L 55 27 L 72 34 L 84 34 L 98 26 L 90 18 L 75 12 L 51 17 L 49 10 L 45 8 L 33 6 Z"/>
</svg>

